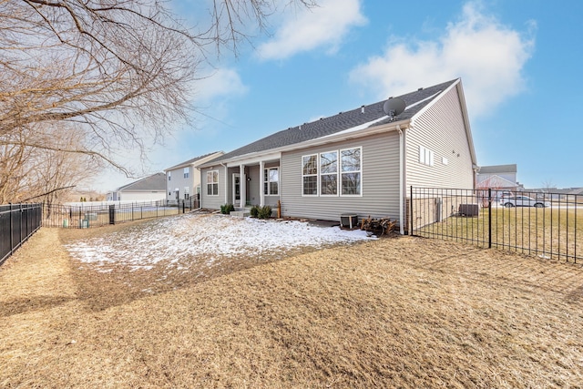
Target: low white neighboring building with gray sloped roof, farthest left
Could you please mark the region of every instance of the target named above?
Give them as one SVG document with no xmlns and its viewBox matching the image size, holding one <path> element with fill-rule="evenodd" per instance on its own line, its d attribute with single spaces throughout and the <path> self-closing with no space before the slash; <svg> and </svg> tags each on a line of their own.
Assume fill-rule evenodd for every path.
<svg viewBox="0 0 583 389">
<path fill-rule="evenodd" d="M 107 194 L 113 201 L 158 201 L 166 200 L 166 175 L 156 173 L 138 179 Z"/>
</svg>

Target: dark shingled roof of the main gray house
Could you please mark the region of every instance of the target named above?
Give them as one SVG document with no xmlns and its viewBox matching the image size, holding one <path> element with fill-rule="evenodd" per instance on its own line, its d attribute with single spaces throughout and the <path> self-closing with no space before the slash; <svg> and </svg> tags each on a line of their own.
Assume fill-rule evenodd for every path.
<svg viewBox="0 0 583 389">
<path fill-rule="evenodd" d="M 405 110 L 393 119 L 388 118 L 384 113 L 383 106 L 386 100 L 373 103 L 368 106 L 355 108 L 347 112 L 340 112 L 329 118 L 321 118 L 310 123 L 287 128 L 271 134 L 268 137 L 256 140 L 242 148 L 237 148 L 229 153 L 223 154 L 217 159 L 212 159 L 207 164 L 220 162 L 250 153 L 267 151 L 273 148 L 282 148 L 301 143 L 307 140 L 322 138 L 336 134 L 349 128 L 366 125 L 374 122 L 369 127 L 380 126 L 391 121 L 399 121 L 413 118 L 423 107 L 431 103 L 439 94 L 448 87 L 451 87 L 458 79 L 447 81 L 433 87 L 419 88 L 418 90 L 402 96 L 405 102 Z M 376 120 L 376 121 L 375 121 Z"/>
</svg>

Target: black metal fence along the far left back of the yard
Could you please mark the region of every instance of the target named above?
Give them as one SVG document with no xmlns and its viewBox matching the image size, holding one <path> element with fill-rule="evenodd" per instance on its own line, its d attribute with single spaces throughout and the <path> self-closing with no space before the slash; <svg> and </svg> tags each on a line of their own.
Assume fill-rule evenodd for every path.
<svg viewBox="0 0 583 389">
<path fill-rule="evenodd" d="M 80 203 L 73 205 L 44 204 L 44 227 L 68 229 L 87 229 L 133 220 L 161 218 L 178 215 L 187 210 L 199 208 L 199 200 L 127 202 L 111 201 L 104 203 Z"/>
</svg>

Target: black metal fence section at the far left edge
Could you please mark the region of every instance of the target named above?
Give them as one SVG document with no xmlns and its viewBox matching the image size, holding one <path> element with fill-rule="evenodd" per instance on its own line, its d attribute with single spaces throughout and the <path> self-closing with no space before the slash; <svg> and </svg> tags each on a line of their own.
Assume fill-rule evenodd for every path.
<svg viewBox="0 0 583 389">
<path fill-rule="evenodd" d="M 0 265 L 40 228 L 42 204 L 0 205 Z"/>
</svg>

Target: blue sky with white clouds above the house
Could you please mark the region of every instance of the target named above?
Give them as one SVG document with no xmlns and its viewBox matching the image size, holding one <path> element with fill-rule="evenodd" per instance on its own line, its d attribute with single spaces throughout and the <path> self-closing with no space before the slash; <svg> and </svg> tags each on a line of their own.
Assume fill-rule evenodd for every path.
<svg viewBox="0 0 583 389">
<path fill-rule="evenodd" d="M 204 0 L 171 0 L 190 24 Z M 582 1 L 320 0 L 211 56 L 199 115 L 152 148 L 156 172 L 284 128 L 462 78 L 478 165 L 517 164 L 527 188 L 583 187 Z M 108 175 L 98 189 L 135 179 Z"/>
</svg>

